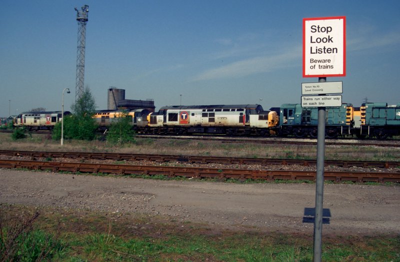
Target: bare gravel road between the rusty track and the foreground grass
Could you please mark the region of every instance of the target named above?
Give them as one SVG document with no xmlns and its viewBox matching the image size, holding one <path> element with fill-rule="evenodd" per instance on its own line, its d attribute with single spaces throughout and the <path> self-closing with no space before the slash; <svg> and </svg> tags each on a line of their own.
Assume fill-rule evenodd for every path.
<svg viewBox="0 0 400 262">
<path fill-rule="evenodd" d="M 315 184 L 152 180 L 0 169 L 0 203 L 139 212 L 220 228 L 311 233 Z M 326 234 L 400 233 L 400 187 L 325 184 Z"/>
</svg>

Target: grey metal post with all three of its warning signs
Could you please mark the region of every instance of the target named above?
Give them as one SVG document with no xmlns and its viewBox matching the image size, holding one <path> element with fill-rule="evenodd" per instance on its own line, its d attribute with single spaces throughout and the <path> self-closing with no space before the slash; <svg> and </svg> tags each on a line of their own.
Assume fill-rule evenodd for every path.
<svg viewBox="0 0 400 262">
<path fill-rule="evenodd" d="M 341 106 L 341 82 L 326 83 L 326 77 L 346 75 L 346 17 L 303 19 L 303 77 L 318 77 L 318 84 L 303 83 L 301 107 L 318 107 L 314 219 L 314 262 L 321 261 L 323 171 L 326 107 Z"/>
</svg>

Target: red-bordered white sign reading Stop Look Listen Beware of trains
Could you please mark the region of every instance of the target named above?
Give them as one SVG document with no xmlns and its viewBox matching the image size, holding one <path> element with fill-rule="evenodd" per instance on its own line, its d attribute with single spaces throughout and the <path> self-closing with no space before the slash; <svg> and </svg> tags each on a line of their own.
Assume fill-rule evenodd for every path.
<svg viewBox="0 0 400 262">
<path fill-rule="evenodd" d="M 346 17 L 303 19 L 303 77 L 346 75 Z"/>
</svg>

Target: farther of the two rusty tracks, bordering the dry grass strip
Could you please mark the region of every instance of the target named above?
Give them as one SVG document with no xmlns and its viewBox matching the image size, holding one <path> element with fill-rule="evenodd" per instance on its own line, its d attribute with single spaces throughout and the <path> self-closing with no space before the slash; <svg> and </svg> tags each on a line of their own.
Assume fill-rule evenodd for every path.
<svg viewBox="0 0 400 262">
<path fill-rule="evenodd" d="M 87 153 L 87 152 L 33 152 L 0 150 L 0 155 L 27 156 L 31 158 L 84 158 L 98 160 L 146 160 L 155 162 L 188 162 L 188 163 L 219 163 L 219 164 L 259 164 L 259 165 L 316 165 L 316 160 L 300 159 L 270 159 L 270 158 L 239 158 L 239 157 L 214 157 L 214 156 L 182 156 L 182 155 L 154 155 L 130 153 Z M 325 166 L 334 165 L 341 167 L 379 167 L 393 168 L 400 166 L 398 161 L 354 161 L 354 160 L 325 160 Z"/>
</svg>

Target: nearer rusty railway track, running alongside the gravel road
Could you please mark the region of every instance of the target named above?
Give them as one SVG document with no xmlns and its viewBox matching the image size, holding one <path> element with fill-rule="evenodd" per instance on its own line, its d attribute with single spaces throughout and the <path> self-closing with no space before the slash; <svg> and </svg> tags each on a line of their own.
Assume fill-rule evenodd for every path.
<svg viewBox="0 0 400 262">
<path fill-rule="evenodd" d="M 0 160 L 1 168 L 108 173 L 119 175 L 165 175 L 168 177 L 246 179 L 253 180 L 315 180 L 316 172 L 282 170 L 217 169 L 198 167 L 134 166 L 120 164 L 87 164 L 51 161 Z M 324 172 L 324 180 L 354 182 L 400 182 L 400 173 Z"/>
</svg>

